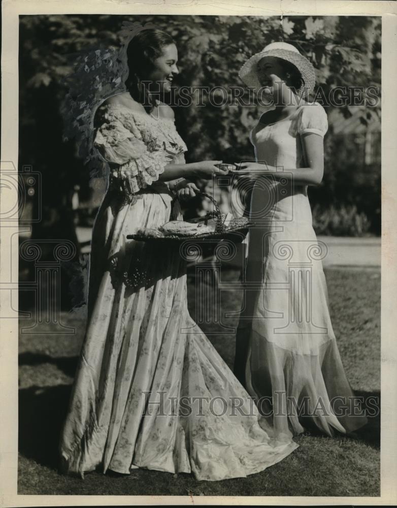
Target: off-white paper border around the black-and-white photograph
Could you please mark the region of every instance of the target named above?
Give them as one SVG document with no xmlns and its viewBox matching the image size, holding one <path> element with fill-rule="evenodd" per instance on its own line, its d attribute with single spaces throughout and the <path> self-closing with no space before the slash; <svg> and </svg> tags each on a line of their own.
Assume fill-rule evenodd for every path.
<svg viewBox="0 0 397 508">
<path fill-rule="evenodd" d="M 397 504 L 397 3 L 301 0 L 3 0 L 1 169 L 18 167 L 18 15 L 169 14 L 224 16 L 382 16 L 382 307 L 381 307 L 381 496 L 380 497 L 214 497 L 18 495 L 18 320 L 0 319 L 0 504 L 73 505 L 393 505 Z M 7 210 L 6 200 L 0 202 Z M 18 280 L 17 227 L 0 223 L 0 281 Z M 12 243 L 10 249 L 10 242 Z M 13 257 L 13 262 L 11 259 Z M 10 273 L 12 267 L 12 273 Z M 11 278 L 10 278 L 11 277 Z M 8 292 L 0 292 L 0 309 Z"/>
</svg>

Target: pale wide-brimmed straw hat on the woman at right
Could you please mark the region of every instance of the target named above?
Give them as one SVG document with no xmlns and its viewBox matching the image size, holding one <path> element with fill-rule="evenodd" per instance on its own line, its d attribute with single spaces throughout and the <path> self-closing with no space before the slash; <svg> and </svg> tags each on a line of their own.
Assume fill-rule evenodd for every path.
<svg viewBox="0 0 397 508">
<path fill-rule="evenodd" d="M 249 58 L 240 69 L 239 76 L 247 86 L 259 89 L 261 84 L 256 74 L 256 66 L 259 60 L 267 56 L 273 56 L 282 58 L 296 67 L 301 73 L 303 79 L 303 85 L 299 90 L 296 90 L 298 94 L 302 89 L 308 92 L 312 91 L 316 82 L 316 75 L 312 63 L 303 56 L 295 46 L 287 44 L 286 42 L 273 42 L 265 46 L 262 51 L 254 54 Z"/>
</svg>

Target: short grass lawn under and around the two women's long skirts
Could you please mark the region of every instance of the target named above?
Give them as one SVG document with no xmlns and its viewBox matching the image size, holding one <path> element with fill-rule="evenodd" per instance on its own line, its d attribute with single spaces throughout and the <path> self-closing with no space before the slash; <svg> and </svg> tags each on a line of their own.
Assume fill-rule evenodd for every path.
<svg viewBox="0 0 397 508">
<path fill-rule="evenodd" d="M 380 270 L 325 271 L 330 312 L 348 378 L 363 397 L 380 390 Z M 222 280 L 236 280 L 228 270 Z M 189 306 L 195 316 L 194 277 Z M 222 293 L 222 310 L 237 311 L 238 290 Z M 379 496 L 380 418 L 353 437 L 305 433 L 300 447 L 278 464 L 248 478 L 197 482 L 188 474 L 136 469 L 127 477 L 93 472 L 85 480 L 57 472 L 59 430 L 65 416 L 77 355 L 84 334 L 79 313 L 62 314 L 74 335 L 21 335 L 19 348 L 18 494 L 215 495 L 215 496 Z M 229 366 L 234 334 L 211 322 L 202 325 Z M 224 325 L 235 326 L 237 319 Z M 23 326 L 26 326 L 22 322 Z"/>
</svg>

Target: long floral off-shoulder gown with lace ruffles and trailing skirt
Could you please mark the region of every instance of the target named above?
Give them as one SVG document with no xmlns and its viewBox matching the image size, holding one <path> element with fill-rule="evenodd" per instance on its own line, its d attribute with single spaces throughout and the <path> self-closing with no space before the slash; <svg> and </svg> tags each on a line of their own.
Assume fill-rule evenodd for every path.
<svg viewBox="0 0 397 508">
<path fill-rule="evenodd" d="M 270 436 L 189 316 L 178 248 L 125 241 L 172 217 L 172 194 L 157 179 L 171 161 L 184 163 L 173 120 L 108 106 L 95 145 L 111 180 L 93 231 L 89 319 L 60 442 L 64 470 L 143 467 L 222 480 L 275 464 L 297 445 Z"/>
</svg>

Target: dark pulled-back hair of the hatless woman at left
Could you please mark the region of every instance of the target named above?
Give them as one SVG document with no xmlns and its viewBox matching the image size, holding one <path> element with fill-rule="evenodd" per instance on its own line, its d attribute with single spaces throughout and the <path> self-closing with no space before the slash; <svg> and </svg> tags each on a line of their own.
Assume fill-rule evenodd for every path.
<svg viewBox="0 0 397 508">
<path fill-rule="evenodd" d="M 128 43 L 126 57 L 128 77 L 125 86 L 131 97 L 151 109 L 148 90 L 141 83 L 153 69 L 154 60 L 163 54 L 164 47 L 175 44 L 174 39 L 166 32 L 157 28 L 145 28 L 135 35 Z"/>
</svg>

